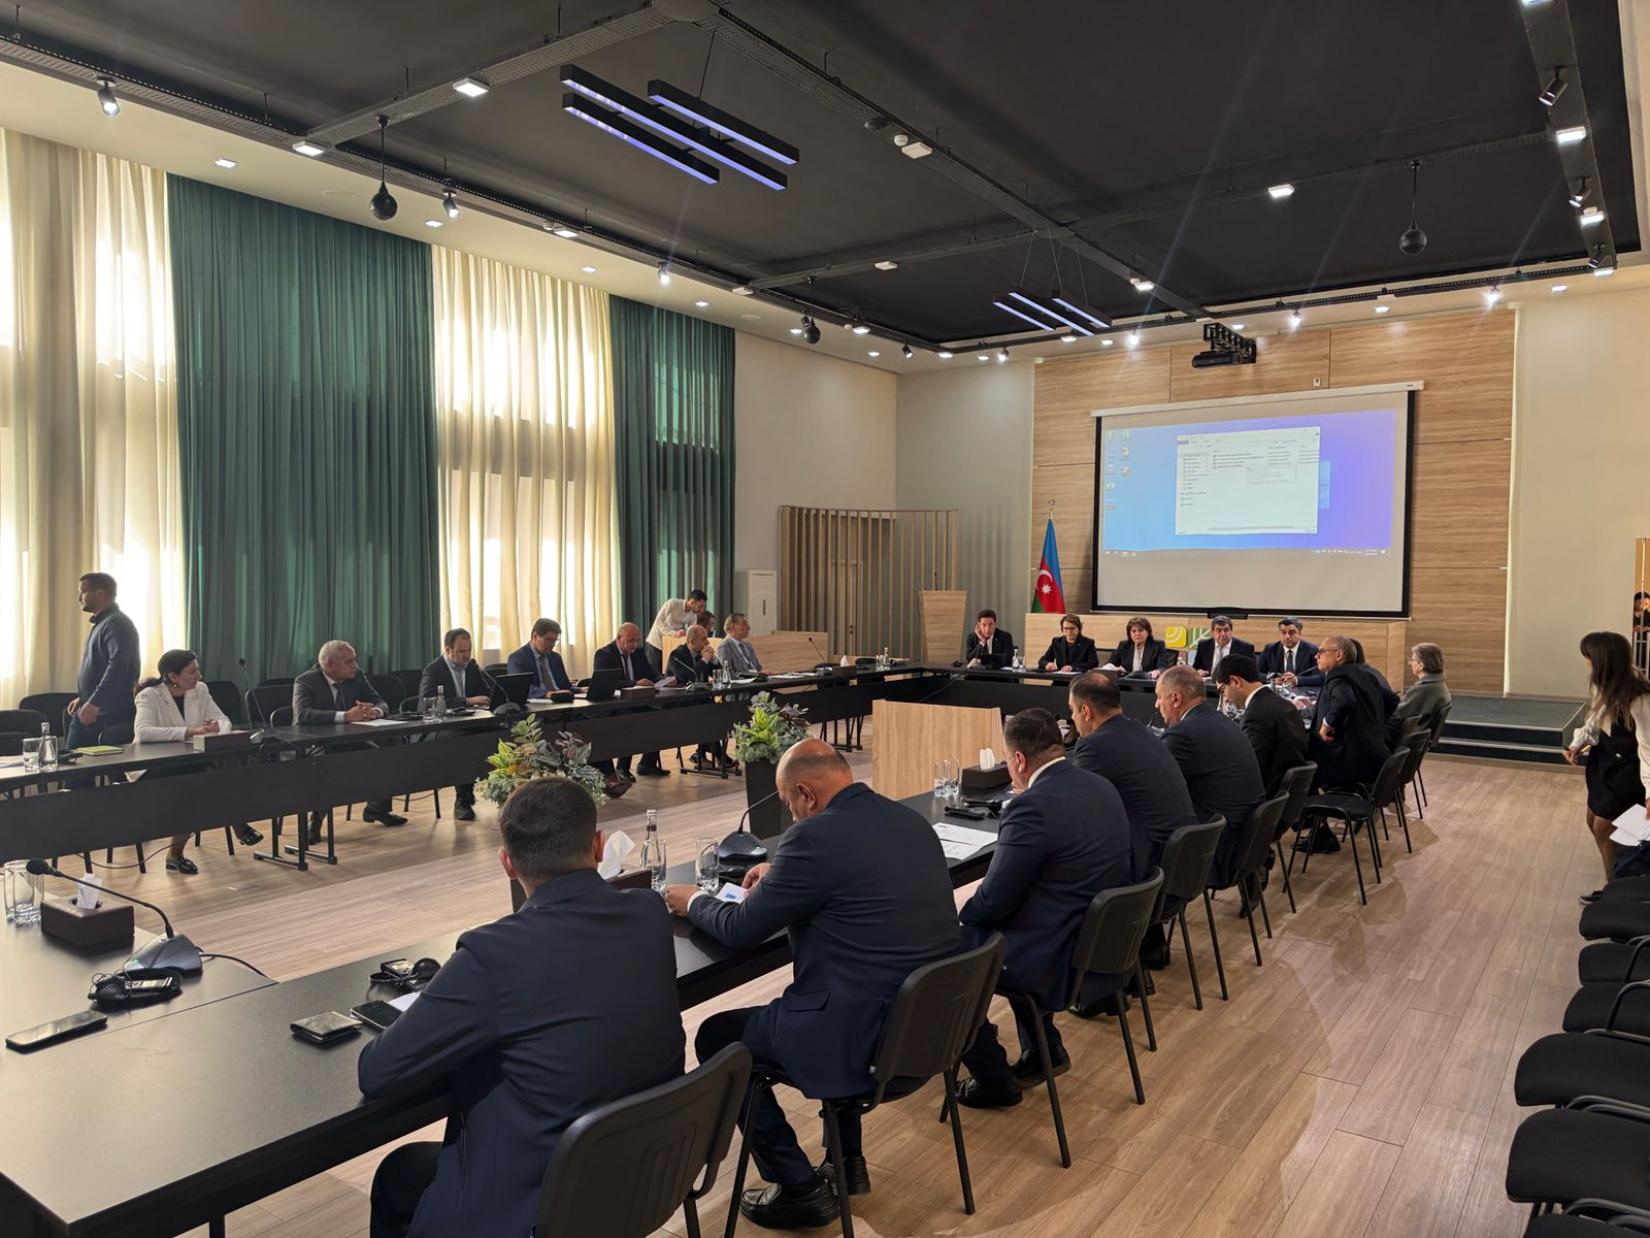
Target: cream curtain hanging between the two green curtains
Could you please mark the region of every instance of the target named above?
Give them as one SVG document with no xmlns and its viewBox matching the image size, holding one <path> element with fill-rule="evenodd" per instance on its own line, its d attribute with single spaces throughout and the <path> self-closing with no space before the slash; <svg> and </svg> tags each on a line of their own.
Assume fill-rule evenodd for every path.
<svg viewBox="0 0 1650 1238">
<path fill-rule="evenodd" d="M 589 673 L 619 612 L 607 294 L 431 253 L 444 626 L 502 660 L 549 616 Z"/>
</svg>

